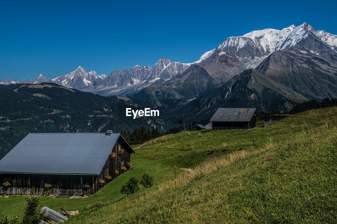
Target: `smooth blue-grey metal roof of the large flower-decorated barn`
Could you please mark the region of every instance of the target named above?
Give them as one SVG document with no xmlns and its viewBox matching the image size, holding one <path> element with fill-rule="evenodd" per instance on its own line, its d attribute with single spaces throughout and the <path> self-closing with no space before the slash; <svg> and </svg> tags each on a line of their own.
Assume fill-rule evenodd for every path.
<svg viewBox="0 0 337 224">
<path fill-rule="evenodd" d="M 0 160 L 0 173 L 99 175 L 118 138 L 124 140 L 119 133 L 30 133 Z"/>
</svg>

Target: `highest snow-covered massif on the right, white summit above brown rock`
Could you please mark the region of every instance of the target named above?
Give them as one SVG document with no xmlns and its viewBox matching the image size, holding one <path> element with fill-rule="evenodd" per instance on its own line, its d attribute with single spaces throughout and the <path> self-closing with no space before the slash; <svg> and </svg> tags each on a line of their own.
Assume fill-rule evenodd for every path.
<svg viewBox="0 0 337 224">
<path fill-rule="evenodd" d="M 282 30 L 264 29 L 247 33 L 240 37 L 229 37 L 217 48 L 206 52 L 206 58 L 196 63 L 219 81 L 226 81 L 244 71 L 255 68 L 276 50 L 286 50 L 305 38 L 308 32 L 313 33 L 333 50 L 337 50 L 337 36 L 325 31 L 317 31 L 304 23 L 298 27 L 291 25 Z"/>
</svg>

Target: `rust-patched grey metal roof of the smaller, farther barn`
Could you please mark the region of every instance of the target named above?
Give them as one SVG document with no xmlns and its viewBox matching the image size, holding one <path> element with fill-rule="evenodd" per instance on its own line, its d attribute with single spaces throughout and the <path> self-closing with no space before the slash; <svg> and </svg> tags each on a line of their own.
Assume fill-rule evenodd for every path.
<svg viewBox="0 0 337 224">
<path fill-rule="evenodd" d="M 218 108 L 210 121 L 250 121 L 255 111 L 256 108 Z"/>
</svg>

